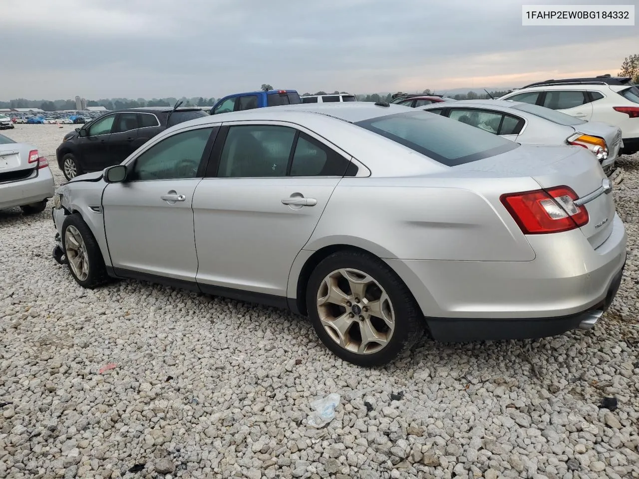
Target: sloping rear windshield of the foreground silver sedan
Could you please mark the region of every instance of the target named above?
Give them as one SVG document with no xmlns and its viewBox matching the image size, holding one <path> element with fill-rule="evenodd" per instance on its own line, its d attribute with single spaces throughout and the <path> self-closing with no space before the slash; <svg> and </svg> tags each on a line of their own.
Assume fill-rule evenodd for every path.
<svg viewBox="0 0 639 479">
<path fill-rule="evenodd" d="M 380 116 L 355 125 L 447 166 L 474 162 L 520 146 L 474 126 L 422 110 Z"/>
</svg>

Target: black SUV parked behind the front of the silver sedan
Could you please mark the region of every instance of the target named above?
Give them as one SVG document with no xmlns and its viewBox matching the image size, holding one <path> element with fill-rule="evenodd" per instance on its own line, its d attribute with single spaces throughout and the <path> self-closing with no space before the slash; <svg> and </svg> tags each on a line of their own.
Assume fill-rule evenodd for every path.
<svg viewBox="0 0 639 479">
<path fill-rule="evenodd" d="M 56 150 L 58 166 L 71 179 L 118 165 L 142 144 L 173 125 L 208 113 L 199 108 L 148 107 L 109 112 L 67 133 Z"/>
</svg>

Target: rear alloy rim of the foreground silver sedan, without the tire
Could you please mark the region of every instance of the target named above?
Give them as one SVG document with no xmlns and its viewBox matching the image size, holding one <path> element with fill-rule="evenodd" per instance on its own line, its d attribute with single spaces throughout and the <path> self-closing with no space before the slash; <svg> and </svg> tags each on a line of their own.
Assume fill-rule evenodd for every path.
<svg viewBox="0 0 639 479">
<path fill-rule="evenodd" d="M 318 289 L 317 308 L 330 338 L 351 353 L 378 353 L 395 330 L 389 295 L 363 271 L 344 268 L 328 274 Z"/>
</svg>

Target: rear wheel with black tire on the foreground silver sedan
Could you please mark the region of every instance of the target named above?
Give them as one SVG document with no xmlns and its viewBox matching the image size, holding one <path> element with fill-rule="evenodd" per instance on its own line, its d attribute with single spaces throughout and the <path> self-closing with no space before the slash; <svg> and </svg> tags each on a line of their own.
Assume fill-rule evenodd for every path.
<svg viewBox="0 0 639 479">
<path fill-rule="evenodd" d="M 329 282 L 341 294 L 331 298 Z M 408 287 L 385 262 L 365 252 L 335 252 L 323 259 L 311 273 L 305 298 L 311 323 L 325 346 L 358 366 L 385 365 L 424 333 L 424 316 Z M 364 340 L 362 331 L 381 341 Z"/>
</svg>

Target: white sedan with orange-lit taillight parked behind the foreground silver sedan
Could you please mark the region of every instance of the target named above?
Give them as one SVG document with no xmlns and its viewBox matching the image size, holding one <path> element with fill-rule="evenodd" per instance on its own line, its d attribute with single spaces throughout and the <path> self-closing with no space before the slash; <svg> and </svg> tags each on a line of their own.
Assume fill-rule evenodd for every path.
<svg viewBox="0 0 639 479">
<path fill-rule="evenodd" d="M 532 145 L 578 145 L 597 156 L 611 174 L 621 146 L 619 126 L 583 121 L 557 110 L 506 100 L 435 103 L 423 110 L 441 114 L 512 141 Z"/>
</svg>

